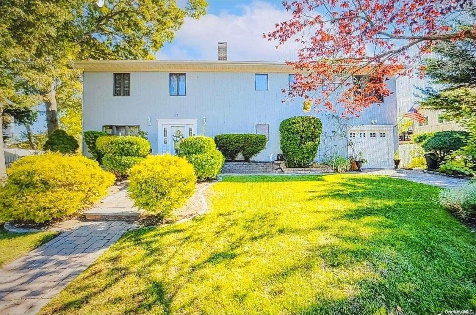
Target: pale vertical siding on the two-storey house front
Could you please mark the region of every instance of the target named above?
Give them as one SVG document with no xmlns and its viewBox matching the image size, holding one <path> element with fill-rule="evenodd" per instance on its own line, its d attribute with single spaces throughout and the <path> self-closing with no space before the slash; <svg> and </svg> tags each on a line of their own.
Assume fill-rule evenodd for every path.
<svg viewBox="0 0 476 315">
<path fill-rule="evenodd" d="M 117 71 L 121 72 L 121 71 Z M 128 71 L 122 71 L 128 72 Z M 197 133 L 202 133 L 202 118 L 207 117 L 205 135 L 222 133 L 255 133 L 256 124 L 269 124 L 269 142 L 257 157 L 268 161 L 281 152 L 279 124 L 296 115 L 314 115 L 321 118 L 323 129 L 331 132 L 331 120 L 326 112 L 302 111 L 302 102 L 282 103 L 288 86 L 288 73 L 269 73 L 268 90 L 256 91 L 254 72 L 187 72 L 186 96 L 169 96 L 169 72 L 130 72 L 130 97 L 113 97 L 112 72 L 84 72 L 83 128 L 102 130 L 103 125 L 139 125 L 148 132 L 152 153 L 159 152 L 157 118 L 196 118 Z M 395 91 L 395 79 L 387 81 Z M 148 117 L 151 125 L 148 126 Z M 368 108 L 360 118 L 352 118 L 349 125 L 397 124 L 395 93 L 382 104 Z M 397 149 L 397 128 L 394 132 L 394 150 Z M 326 148 L 347 155 L 345 140 L 322 143 L 317 160 Z M 84 147 L 83 152 L 87 152 Z"/>
</svg>

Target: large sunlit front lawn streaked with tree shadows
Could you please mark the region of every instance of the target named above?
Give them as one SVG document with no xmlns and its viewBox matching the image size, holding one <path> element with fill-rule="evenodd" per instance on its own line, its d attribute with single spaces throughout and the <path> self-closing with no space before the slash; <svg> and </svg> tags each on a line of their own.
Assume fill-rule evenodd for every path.
<svg viewBox="0 0 476 315">
<path fill-rule="evenodd" d="M 225 177 L 208 214 L 129 232 L 41 313 L 474 309 L 475 235 L 438 191 L 388 177 Z"/>
</svg>

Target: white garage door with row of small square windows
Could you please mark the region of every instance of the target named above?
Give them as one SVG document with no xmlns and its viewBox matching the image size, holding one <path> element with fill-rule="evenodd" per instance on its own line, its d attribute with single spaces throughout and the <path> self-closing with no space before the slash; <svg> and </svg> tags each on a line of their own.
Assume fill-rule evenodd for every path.
<svg viewBox="0 0 476 315">
<path fill-rule="evenodd" d="M 362 168 L 393 167 L 393 126 L 355 126 L 349 129 L 348 154 L 363 152 Z"/>
</svg>

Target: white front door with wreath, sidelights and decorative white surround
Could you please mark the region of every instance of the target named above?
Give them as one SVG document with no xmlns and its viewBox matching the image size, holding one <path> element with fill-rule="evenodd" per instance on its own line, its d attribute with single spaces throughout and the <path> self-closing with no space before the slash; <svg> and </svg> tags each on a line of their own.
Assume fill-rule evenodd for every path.
<svg viewBox="0 0 476 315">
<path fill-rule="evenodd" d="M 157 119 L 159 123 L 159 153 L 180 153 L 180 142 L 197 133 L 197 119 Z"/>
</svg>

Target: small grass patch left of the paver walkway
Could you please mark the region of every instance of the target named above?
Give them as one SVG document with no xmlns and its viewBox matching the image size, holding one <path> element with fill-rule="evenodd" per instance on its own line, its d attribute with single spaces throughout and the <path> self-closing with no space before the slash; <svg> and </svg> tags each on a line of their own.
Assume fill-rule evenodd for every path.
<svg viewBox="0 0 476 315">
<path fill-rule="evenodd" d="M 48 242 L 56 232 L 11 233 L 0 228 L 0 267 Z"/>
</svg>

